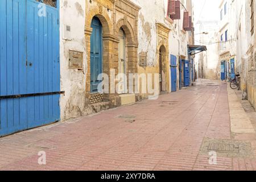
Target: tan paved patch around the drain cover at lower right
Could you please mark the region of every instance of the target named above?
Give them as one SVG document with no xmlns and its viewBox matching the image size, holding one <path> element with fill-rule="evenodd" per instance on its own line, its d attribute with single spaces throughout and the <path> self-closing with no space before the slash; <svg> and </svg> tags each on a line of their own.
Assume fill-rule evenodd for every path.
<svg viewBox="0 0 256 182">
<path fill-rule="evenodd" d="M 251 151 L 251 143 L 241 142 L 238 140 L 226 139 L 209 139 L 205 138 L 200 149 L 200 155 L 209 155 L 209 152 L 214 151 L 218 156 L 222 157 L 244 157 L 253 158 L 254 154 Z"/>
</svg>

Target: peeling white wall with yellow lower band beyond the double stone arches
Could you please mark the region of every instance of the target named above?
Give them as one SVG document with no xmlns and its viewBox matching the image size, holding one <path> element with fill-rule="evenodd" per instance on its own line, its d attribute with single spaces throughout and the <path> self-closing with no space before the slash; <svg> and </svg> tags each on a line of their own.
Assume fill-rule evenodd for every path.
<svg viewBox="0 0 256 182">
<path fill-rule="evenodd" d="M 147 67 L 139 67 L 139 73 L 159 73 L 159 60 L 157 55 L 157 32 L 156 23 L 162 23 L 164 26 L 170 28 L 168 39 L 168 60 L 167 65 L 170 65 L 170 55 L 177 56 L 177 64 L 179 64 L 179 56 L 188 59 L 188 43 L 190 32 L 183 31 L 183 6 L 181 7 L 181 19 L 171 20 L 167 18 L 168 0 L 133 0 L 138 6 L 141 7 L 139 11 L 138 22 L 138 52 L 147 52 Z M 193 17 L 191 0 L 180 1 L 189 11 Z M 171 73 L 168 67 L 168 92 L 171 90 Z M 179 88 L 179 67 L 177 67 L 177 85 Z"/>
</svg>

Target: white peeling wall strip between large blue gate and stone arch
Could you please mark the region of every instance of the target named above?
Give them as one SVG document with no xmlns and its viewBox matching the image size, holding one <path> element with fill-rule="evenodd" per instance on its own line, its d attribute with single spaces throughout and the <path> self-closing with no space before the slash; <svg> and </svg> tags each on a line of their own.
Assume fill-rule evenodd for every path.
<svg viewBox="0 0 256 182">
<path fill-rule="evenodd" d="M 85 1 L 60 0 L 60 74 L 61 120 L 76 118 L 86 113 L 85 109 Z M 67 31 L 70 27 L 70 32 Z M 83 69 L 69 69 L 69 50 L 83 52 Z"/>
</svg>

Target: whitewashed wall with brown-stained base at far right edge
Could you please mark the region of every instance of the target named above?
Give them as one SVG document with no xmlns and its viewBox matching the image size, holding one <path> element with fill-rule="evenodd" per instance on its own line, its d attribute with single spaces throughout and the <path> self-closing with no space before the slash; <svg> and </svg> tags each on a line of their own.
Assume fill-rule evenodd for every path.
<svg viewBox="0 0 256 182">
<path fill-rule="evenodd" d="M 241 89 L 256 107 L 256 3 L 254 1 L 254 34 L 251 35 L 250 0 L 236 2 L 237 70 L 241 73 Z"/>
</svg>

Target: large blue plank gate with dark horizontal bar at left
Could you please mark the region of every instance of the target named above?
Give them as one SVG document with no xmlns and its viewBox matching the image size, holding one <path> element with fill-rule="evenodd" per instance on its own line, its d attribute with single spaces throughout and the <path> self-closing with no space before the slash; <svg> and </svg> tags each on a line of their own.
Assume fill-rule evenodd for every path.
<svg viewBox="0 0 256 182">
<path fill-rule="evenodd" d="M 60 119 L 59 2 L 1 0 L 0 136 Z"/>
</svg>

